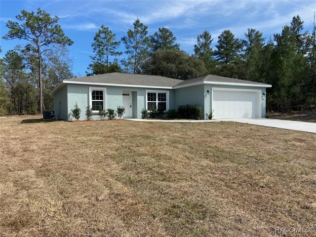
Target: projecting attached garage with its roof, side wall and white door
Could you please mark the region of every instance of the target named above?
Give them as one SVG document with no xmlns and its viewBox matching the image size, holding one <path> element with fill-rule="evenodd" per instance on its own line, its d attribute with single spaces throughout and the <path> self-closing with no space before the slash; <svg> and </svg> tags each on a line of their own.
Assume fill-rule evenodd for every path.
<svg viewBox="0 0 316 237">
<path fill-rule="evenodd" d="M 264 118 L 266 88 L 272 85 L 206 75 L 175 85 L 175 106 L 193 104 L 202 108 L 204 118 Z"/>
</svg>

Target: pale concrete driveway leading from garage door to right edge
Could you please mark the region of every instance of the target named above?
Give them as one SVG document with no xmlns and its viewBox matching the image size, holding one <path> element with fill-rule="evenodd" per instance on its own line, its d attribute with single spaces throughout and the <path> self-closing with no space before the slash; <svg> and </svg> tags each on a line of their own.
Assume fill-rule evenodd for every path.
<svg viewBox="0 0 316 237">
<path fill-rule="evenodd" d="M 300 122 L 283 119 L 271 119 L 271 118 L 223 118 L 216 119 L 220 121 L 234 121 L 241 123 L 249 123 L 267 127 L 277 127 L 289 130 L 297 130 L 303 132 L 316 133 L 316 123 L 314 122 Z"/>
</svg>

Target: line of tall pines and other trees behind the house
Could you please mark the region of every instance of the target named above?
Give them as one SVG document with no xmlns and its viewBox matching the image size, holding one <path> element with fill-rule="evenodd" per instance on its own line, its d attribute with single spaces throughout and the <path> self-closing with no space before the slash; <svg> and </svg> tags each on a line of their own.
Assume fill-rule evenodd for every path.
<svg viewBox="0 0 316 237">
<path fill-rule="evenodd" d="M 67 46 L 73 41 L 57 24 L 58 17 L 38 9 L 22 10 L 8 21 L 5 40 L 24 39 L 0 61 L 0 114 L 37 113 L 52 109 L 52 89 L 75 75 Z M 304 31 L 300 16 L 294 16 L 280 34 L 266 40 L 263 33 L 247 29 L 244 39 L 224 30 L 213 45 L 208 30 L 197 35 L 194 54 L 181 50 L 176 37 L 166 28 L 148 35 L 138 18 L 124 37 L 104 25 L 92 41 L 93 55 L 87 76 L 111 72 L 152 74 L 175 79 L 192 79 L 207 74 L 272 84 L 267 91 L 270 111 L 301 111 L 316 108 L 316 24 Z M 119 45 L 125 46 L 123 52 Z"/>
</svg>

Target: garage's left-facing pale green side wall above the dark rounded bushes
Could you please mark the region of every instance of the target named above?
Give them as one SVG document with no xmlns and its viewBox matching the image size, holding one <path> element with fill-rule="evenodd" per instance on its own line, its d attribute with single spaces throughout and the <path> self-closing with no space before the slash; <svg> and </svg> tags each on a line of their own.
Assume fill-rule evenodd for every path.
<svg viewBox="0 0 316 237">
<path fill-rule="evenodd" d="M 195 85 L 175 89 L 174 109 L 177 110 L 177 107 L 180 105 L 198 105 L 202 107 L 202 113 L 205 115 L 205 102 L 209 101 L 209 99 L 207 100 L 208 97 L 209 95 L 207 95 L 206 90 L 204 90 L 204 85 Z"/>
</svg>

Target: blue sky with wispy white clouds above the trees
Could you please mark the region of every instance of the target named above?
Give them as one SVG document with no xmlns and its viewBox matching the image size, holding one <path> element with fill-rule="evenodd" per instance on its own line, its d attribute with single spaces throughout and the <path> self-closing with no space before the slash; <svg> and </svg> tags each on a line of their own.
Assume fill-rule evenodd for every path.
<svg viewBox="0 0 316 237">
<path fill-rule="evenodd" d="M 7 33 L 7 20 L 15 21 L 23 9 L 36 12 L 39 7 L 60 18 L 58 24 L 75 42 L 69 47 L 73 73 L 85 76 L 93 55 L 91 43 L 102 24 L 120 40 L 138 17 L 148 26 L 149 35 L 158 28 L 168 28 L 180 48 L 192 54 L 197 35 L 203 30 L 212 34 L 213 48 L 224 30 L 243 39 L 247 29 L 253 28 L 268 40 L 296 15 L 305 22 L 304 30 L 311 31 L 316 0 L 0 0 L 0 36 Z M 1 39 L 0 57 L 23 43 Z M 121 44 L 119 51 L 124 50 Z"/>
</svg>

